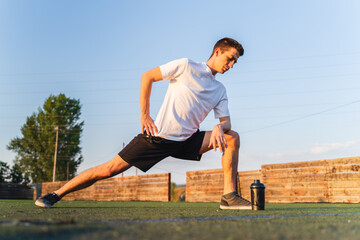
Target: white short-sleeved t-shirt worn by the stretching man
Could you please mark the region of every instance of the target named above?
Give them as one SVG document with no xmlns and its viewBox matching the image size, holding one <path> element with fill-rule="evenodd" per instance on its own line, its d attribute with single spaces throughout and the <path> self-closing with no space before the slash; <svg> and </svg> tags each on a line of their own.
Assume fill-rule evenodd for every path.
<svg viewBox="0 0 360 240">
<path fill-rule="evenodd" d="M 208 113 L 215 118 L 230 116 L 226 89 L 215 80 L 206 63 L 187 58 L 160 66 L 163 80 L 169 80 L 164 102 L 156 117 L 156 136 L 184 141 L 194 134 Z"/>
</svg>

